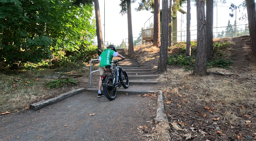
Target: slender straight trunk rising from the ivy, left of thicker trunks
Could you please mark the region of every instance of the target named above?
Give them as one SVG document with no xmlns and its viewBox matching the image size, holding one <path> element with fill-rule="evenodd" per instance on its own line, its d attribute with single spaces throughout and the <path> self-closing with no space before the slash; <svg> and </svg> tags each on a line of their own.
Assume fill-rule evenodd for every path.
<svg viewBox="0 0 256 141">
<path fill-rule="evenodd" d="M 187 45 L 186 45 L 186 56 L 191 56 L 191 44 L 190 44 L 190 0 L 187 0 Z"/>
</svg>

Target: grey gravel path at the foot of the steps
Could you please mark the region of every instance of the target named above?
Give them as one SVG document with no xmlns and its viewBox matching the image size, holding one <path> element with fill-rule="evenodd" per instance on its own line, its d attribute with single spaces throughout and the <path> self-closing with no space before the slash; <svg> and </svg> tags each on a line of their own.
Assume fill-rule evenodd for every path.
<svg viewBox="0 0 256 141">
<path fill-rule="evenodd" d="M 137 127 L 155 113 L 156 99 L 117 95 L 109 101 L 84 92 L 38 111 L 0 116 L 0 141 L 144 140 Z"/>
</svg>

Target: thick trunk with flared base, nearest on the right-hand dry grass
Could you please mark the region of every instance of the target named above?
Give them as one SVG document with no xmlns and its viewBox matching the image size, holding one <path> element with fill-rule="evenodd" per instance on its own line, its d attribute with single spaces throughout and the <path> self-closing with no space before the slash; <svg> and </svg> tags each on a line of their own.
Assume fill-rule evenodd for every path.
<svg viewBox="0 0 256 141">
<path fill-rule="evenodd" d="M 197 0 L 196 2 L 197 12 L 197 50 L 196 50 L 196 62 L 193 74 L 206 75 L 206 25 L 205 25 L 205 1 Z"/>
</svg>

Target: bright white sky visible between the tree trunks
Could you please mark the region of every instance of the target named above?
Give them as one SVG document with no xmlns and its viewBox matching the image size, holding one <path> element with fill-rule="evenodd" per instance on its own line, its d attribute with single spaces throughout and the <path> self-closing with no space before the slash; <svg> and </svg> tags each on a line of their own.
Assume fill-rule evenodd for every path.
<svg viewBox="0 0 256 141">
<path fill-rule="evenodd" d="M 104 1 L 105 1 L 105 10 L 104 10 Z M 228 20 L 230 20 L 231 24 L 233 25 L 235 21 L 235 17 L 231 18 L 229 16 L 229 13 L 231 13 L 231 10 L 229 9 L 230 4 L 233 3 L 234 5 L 238 6 L 244 0 L 226 0 L 227 2 L 226 4 L 223 4 L 221 1 L 222 0 L 218 0 L 218 4 L 217 4 L 218 6 L 214 7 L 214 27 L 227 26 Z M 133 31 L 134 40 L 135 40 L 135 37 L 138 37 L 139 33 L 141 32 L 141 28 L 142 27 L 144 28 L 144 25 L 146 28 L 154 20 L 152 17 L 153 13 L 151 13 L 151 11 L 144 10 L 144 11 L 137 12 L 135 10 L 135 8 L 138 7 L 138 2 L 140 2 L 140 0 L 137 0 L 135 3 L 132 4 L 132 31 Z M 128 38 L 127 14 L 123 16 L 120 14 L 121 7 L 119 6 L 119 4 L 120 4 L 120 0 L 99 0 L 103 41 L 108 41 L 109 44 L 111 42 L 112 44 L 120 45 L 123 39 L 125 40 L 126 38 Z M 185 11 L 187 11 L 186 5 L 187 4 L 184 4 L 183 5 L 184 7 L 182 8 Z M 160 0 L 160 9 L 162 9 L 161 0 Z M 217 9 L 218 9 L 218 13 L 217 13 Z M 240 21 L 238 19 L 242 16 L 242 13 L 247 14 L 247 10 L 243 8 L 240 8 L 240 10 L 237 9 L 237 25 L 248 24 L 248 21 Z M 184 16 L 186 17 L 186 15 Z M 218 24 L 217 24 L 217 21 L 218 21 Z M 105 27 L 104 27 L 104 22 L 105 22 Z M 191 2 L 191 30 L 196 29 L 196 24 L 197 24 L 196 7 L 194 6 L 194 2 Z M 243 25 L 243 26 L 238 26 L 237 28 L 245 28 L 245 27 Z M 221 32 L 222 30 L 225 31 L 225 29 L 226 28 L 218 28 L 218 32 Z M 186 30 L 186 29 L 183 29 L 183 30 Z M 217 32 L 216 28 L 214 29 L 214 32 Z M 191 31 L 191 35 L 192 34 L 193 34 L 193 31 Z M 193 36 L 191 36 L 191 39 L 193 39 Z M 95 40 L 97 41 L 97 37 L 95 37 Z M 126 39 L 126 42 L 127 41 L 128 40 Z"/>
</svg>

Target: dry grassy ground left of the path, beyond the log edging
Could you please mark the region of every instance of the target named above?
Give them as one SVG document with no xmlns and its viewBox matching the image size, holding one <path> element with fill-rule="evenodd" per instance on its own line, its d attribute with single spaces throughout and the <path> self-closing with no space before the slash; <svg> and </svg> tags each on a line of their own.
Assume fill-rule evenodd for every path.
<svg viewBox="0 0 256 141">
<path fill-rule="evenodd" d="M 93 66 L 92 70 L 97 70 L 98 66 Z M 45 71 L 44 73 L 49 72 Z M 78 83 L 88 84 L 90 82 L 90 67 L 84 67 L 77 71 L 66 72 L 68 74 L 83 73 L 83 77 L 77 78 Z M 40 72 L 43 74 L 42 72 Z M 64 74 L 66 74 L 64 73 Z M 48 73 L 46 73 L 49 75 Z M 55 74 L 56 75 L 56 72 Z M 38 77 L 34 72 L 22 72 L 18 75 L 0 74 L 0 113 L 5 111 L 14 111 L 24 109 L 32 103 L 47 100 L 64 92 L 73 90 L 76 86 L 47 89 L 44 83 L 53 79 Z M 98 81 L 98 80 L 97 80 Z M 26 83 L 29 82 L 29 83 Z"/>
</svg>

